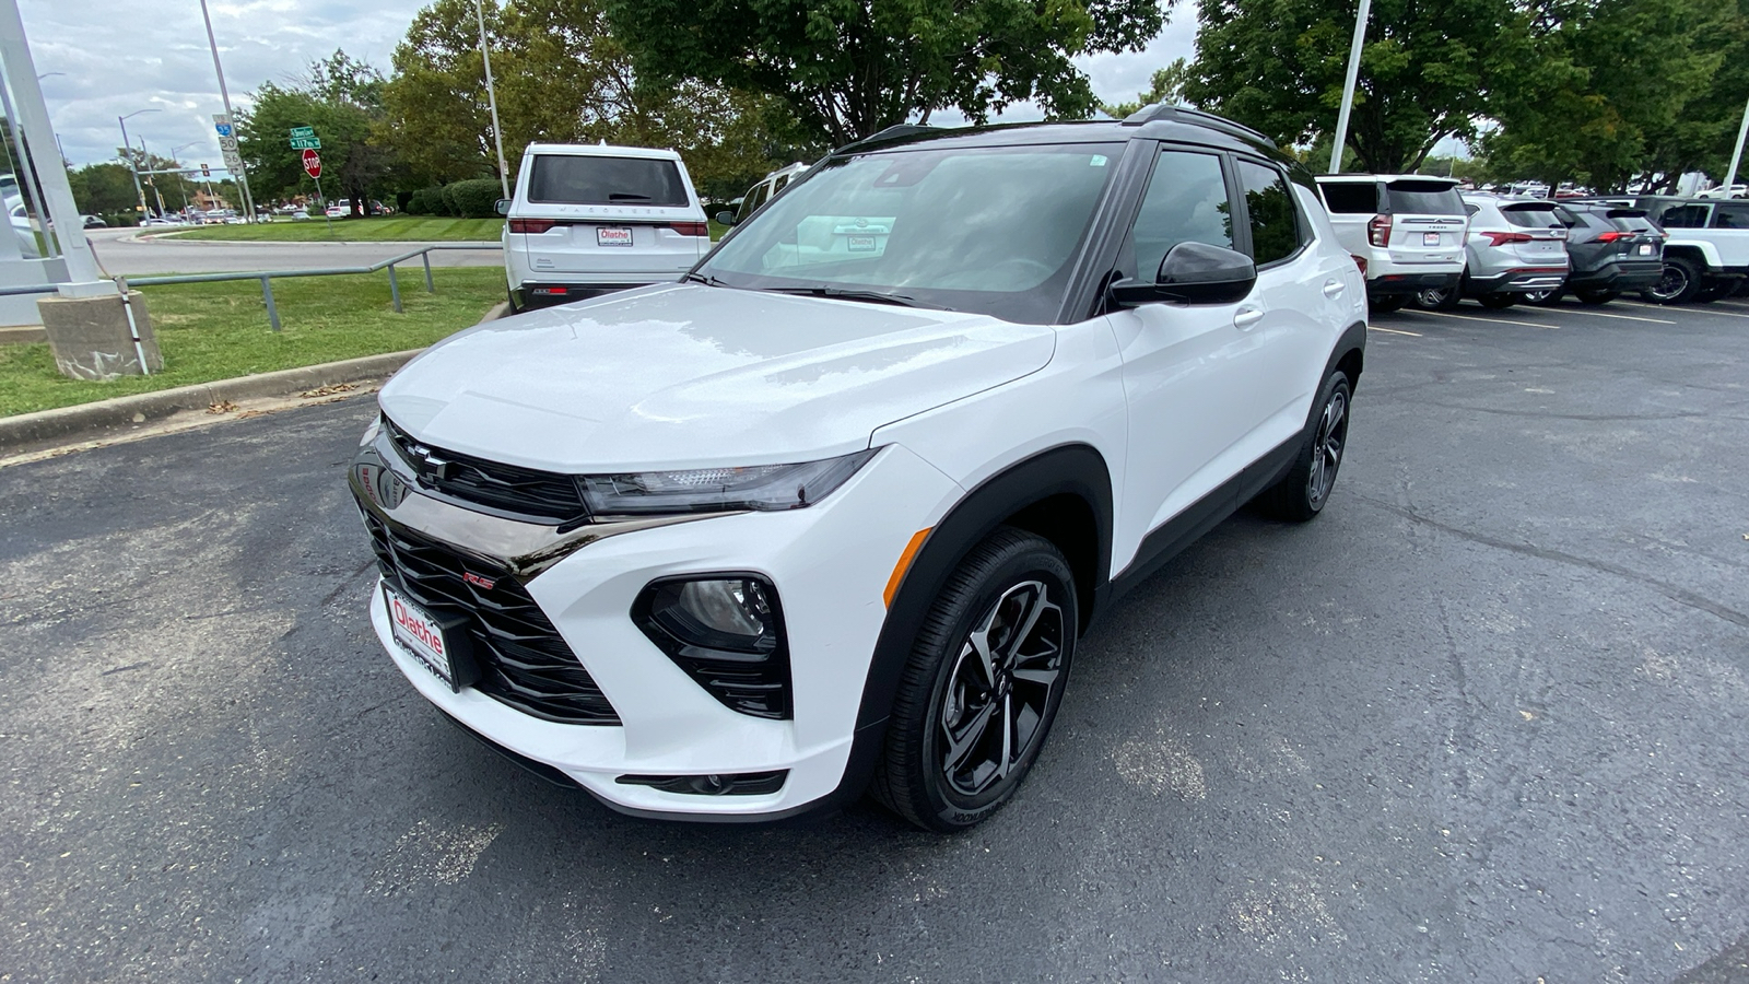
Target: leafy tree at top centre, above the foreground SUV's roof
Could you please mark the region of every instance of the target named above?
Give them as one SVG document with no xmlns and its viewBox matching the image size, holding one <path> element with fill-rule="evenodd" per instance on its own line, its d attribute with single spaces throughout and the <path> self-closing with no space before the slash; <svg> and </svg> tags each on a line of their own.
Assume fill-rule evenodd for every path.
<svg viewBox="0 0 1749 984">
<path fill-rule="evenodd" d="M 605 0 L 642 79 L 775 96 L 833 144 L 948 107 L 1084 117 L 1098 102 L 1070 58 L 1139 51 L 1174 2 Z"/>
</svg>

